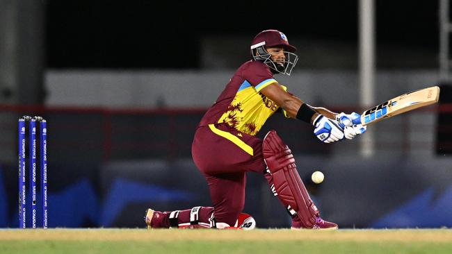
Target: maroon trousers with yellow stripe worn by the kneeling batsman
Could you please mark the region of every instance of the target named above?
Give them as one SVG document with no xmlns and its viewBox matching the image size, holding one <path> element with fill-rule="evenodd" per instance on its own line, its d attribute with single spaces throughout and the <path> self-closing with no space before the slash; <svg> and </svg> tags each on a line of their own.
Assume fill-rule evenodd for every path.
<svg viewBox="0 0 452 254">
<path fill-rule="evenodd" d="M 245 205 L 246 172 L 266 168 L 262 140 L 226 124 L 202 126 L 196 130 L 192 156 L 209 185 L 216 221 L 233 226 Z"/>
</svg>

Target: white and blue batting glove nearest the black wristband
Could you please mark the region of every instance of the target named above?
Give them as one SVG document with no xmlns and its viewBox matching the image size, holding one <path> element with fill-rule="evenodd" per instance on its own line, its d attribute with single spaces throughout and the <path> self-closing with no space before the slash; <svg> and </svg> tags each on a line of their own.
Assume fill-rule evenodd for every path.
<svg viewBox="0 0 452 254">
<path fill-rule="evenodd" d="M 332 143 L 344 138 L 344 130 L 339 127 L 339 123 L 323 115 L 319 115 L 314 120 L 314 135 L 325 143 Z"/>
</svg>

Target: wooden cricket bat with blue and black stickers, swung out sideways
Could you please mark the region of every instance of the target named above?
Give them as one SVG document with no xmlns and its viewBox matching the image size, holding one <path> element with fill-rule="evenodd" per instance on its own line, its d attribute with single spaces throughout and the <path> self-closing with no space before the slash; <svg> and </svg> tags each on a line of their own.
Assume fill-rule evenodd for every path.
<svg viewBox="0 0 452 254">
<path fill-rule="evenodd" d="M 374 124 L 382 119 L 437 103 L 438 99 L 439 87 L 437 86 L 408 92 L 362 112 L 361 117 L 354 120 L 353 124 L 362 124 L 363 126 Z"/>
</svg>

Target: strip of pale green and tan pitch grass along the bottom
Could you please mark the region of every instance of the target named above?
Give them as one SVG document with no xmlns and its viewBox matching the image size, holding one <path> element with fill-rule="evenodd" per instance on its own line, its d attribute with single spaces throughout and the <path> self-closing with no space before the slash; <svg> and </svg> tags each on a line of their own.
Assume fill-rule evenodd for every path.
<svg viewBox="0 0 452 254">
<path fill-rule="evenodd" d="M 0 253 L 452 253 L 452 230 L 0 230 Z"/>
</svg>

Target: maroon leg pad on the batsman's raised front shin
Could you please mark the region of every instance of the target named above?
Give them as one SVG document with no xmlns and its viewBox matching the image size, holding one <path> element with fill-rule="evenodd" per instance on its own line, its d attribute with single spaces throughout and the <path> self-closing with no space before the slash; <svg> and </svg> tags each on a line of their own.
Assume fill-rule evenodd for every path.
<svg viewBox="0 0 452 254">
<path fill-rule="evenodd" d="M 282 142 L 275 130 L 264 137 L 262 144 L 264 160 L 273 178 L 274 192 L 286 205 L 292 216 L 300 217 L 305 228 L 312 228 L 318 217 L 318 210 L 307 193 L 295 159 L 289 147 Z"/>
</svg>

